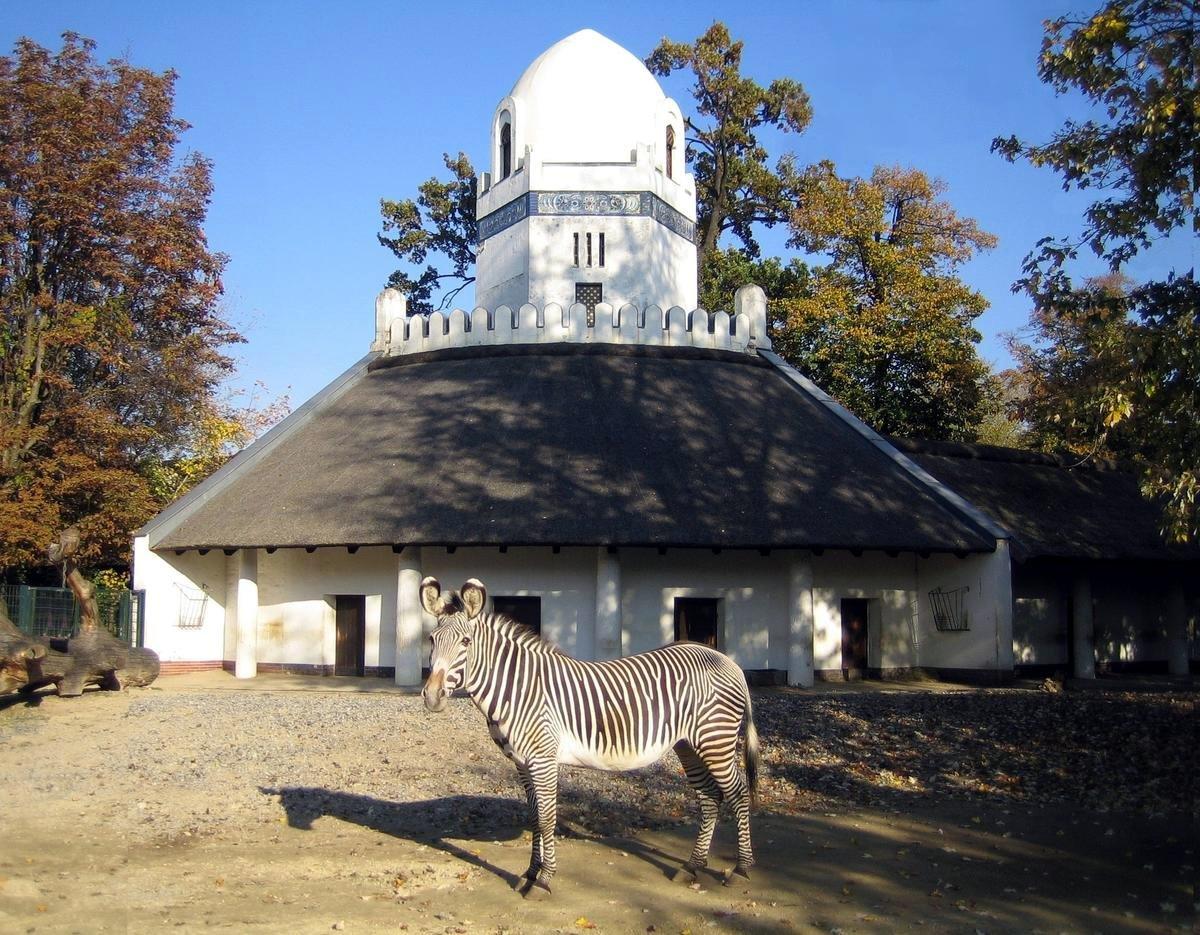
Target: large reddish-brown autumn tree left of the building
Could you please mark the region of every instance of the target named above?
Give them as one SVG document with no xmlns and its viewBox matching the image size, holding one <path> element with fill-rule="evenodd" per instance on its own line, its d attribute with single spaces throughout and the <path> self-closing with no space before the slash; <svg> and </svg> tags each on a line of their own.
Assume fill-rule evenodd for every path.
<svg viewBox="0 0 1200 935">
<path fill-rule="evenodd" d="M 148 464 L 186 446 L 240 336 L 203 223 L 211 167 L 176 158 L 173 72 L 100 65 L 64 35 L 0 58 L 0 571 L 78 525 L 120 563 L 161 508 Z"/>
</svg>

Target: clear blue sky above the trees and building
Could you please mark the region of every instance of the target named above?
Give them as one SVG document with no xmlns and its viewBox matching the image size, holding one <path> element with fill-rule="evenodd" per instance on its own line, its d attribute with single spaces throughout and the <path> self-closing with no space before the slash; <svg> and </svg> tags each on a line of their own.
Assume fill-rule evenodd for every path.
<svg viewBox="0 0 1200 935">
<path fill-rule="evenodd" d="M 1021 259 L 1038 238 L 1076 232 L 1087 202 L 989 145 L 1008 133 L 1044 140 L 1079 113 L 1076 100 L 1037 79 L 1042 20 L 1097 6 L 91 0 L 10 11 L 0 47 L 7 54 L 30 36 L 56 48 L 70 29 L 96 40 L 104 59 L 179 73 L 176 113 L 193 127 L 185 146 L 215 162 L 206 232 L 230 257 L 226 314 L 247 338 L 234 349 L 236 384 L 262 382 L 295 406 L 371 342 L 374 295 L 395 268 L 376 241 L 379 199 L 414 194 L 440 174 L 444 151 L 464 150 L 479 166 L 496 102 L 547 46 L 583 26 L 644 56 L 662 36 L 691 41 L 724 20 L 745 41 L 745 74 L 791 77 L 811 95 L 811 127 L 768 137 L 775 154 L 832 158 L 842 174 L 904 164 L 943 179 L 955 209 L 1000 238 L 964 275 L 991 302 L 980 350 L 1006 366 L 1000 335 L 1028 314 L 1009 290 Z M 685 79 L 665 85 L 686 113 Z M 782 240 L 769 232 L 763 244 L 781 250 Z M 1176 240 L 1132 272 L 1180 265 L 1188 250 Z"/>
</svg>

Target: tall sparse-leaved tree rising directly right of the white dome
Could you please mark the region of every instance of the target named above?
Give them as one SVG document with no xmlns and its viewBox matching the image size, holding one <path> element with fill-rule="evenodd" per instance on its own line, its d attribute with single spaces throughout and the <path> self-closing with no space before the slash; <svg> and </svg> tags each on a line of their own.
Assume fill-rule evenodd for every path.
<svg viewBox="0 0 1200 935">
<path fill-rule="evenodd" d="M 742 77 L 742 46 L 724 23 L 714 23 L 691 46 L 664 38 L 646 59 L 654 74 L 666 77 L 689 68 L 696 78 L 696 114 L 686 118 L 686 126 L 702 271 L 726 230 L 750 257 L 757 257 L 754 226 L 787 220 L 797 176 L 793 160 L 781 157 L 772 172 L 756 131 L 775 127 L 803 133 L 812 119 L 809 95 L 798 82 L 776 78 L 763 88 Z"/>
</svg>

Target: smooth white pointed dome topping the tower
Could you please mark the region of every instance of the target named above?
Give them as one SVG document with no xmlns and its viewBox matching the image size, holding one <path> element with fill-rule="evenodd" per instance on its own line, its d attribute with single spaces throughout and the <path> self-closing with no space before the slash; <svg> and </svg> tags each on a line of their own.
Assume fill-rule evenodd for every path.
<svg viewBox="0 0 1200 935">
<path fill-rule="evenodd" d="M 659 140 L 667 119 L 649 70 L 594 29 L 546 49 L 510 97 L 521 145 L 540 162 L 625 162 L 638 143 Z"/>
</svg>

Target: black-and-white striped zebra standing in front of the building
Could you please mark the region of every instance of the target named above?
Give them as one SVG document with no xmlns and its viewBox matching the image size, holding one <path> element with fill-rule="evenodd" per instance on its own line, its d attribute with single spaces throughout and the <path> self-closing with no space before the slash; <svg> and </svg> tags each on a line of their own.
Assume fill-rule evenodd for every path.
<svg viewBox="0 0 1200 935">
<path fill-rule="evenodd" d="M 708 864 L 722 802 L 730 803 L 738 827 L 737 864 L 725 873 L 725 882 L 750 877 L 758 733 L 750 690 L 732 659 L 682 642 L 586 663 L 508 617 L 484 613 L 487 589 L 476 579 L 443 595 L 438 580 L 426 577 L 420 594 L 425 610 L 437 618 L 430 677 L 421 689 L 425 707 L 443 711 L 455 690 L 466 690 L 524 789 L 534 831 L 529 869 L 517 883 L 521 895 L 539 899 L 551 892 L 558 867 L 559 763 L 636 769 L 672 747 L 701 809 L 696 845 L 673 879 L 694 882 Z M 743 736 L 744 773 L 737 756 Z"/>
</svg>

